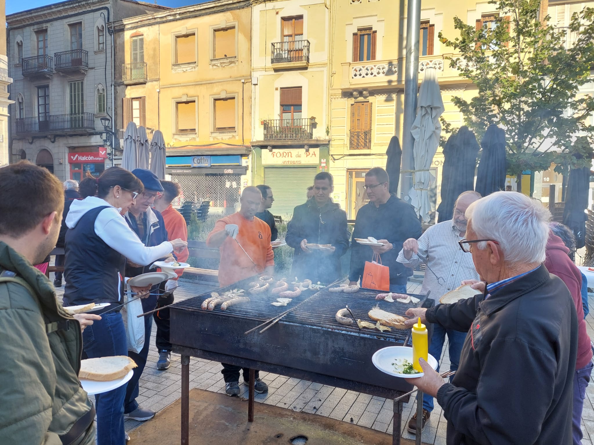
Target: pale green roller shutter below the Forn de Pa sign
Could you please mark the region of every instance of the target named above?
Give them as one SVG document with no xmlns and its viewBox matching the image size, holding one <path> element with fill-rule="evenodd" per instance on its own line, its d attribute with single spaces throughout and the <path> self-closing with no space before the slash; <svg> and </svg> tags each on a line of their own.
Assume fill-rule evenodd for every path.
<svg viewBox="0 0 594 445">
<path fill-rule="evenodd" d="M 273 215 L 289 221 L 293 209 L 306 201 L 307 187 L 314 185 L 317 167 L 266 167 L 264 183 L 272 189 Z"/>
</svg>

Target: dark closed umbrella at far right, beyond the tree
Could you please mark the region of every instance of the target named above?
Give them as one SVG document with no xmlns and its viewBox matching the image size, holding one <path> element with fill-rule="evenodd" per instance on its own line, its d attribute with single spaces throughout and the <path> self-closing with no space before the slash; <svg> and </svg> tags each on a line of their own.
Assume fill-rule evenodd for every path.
<svg viewBox="0 0 594 445">
<path fill-rule="evenodd" d="M 576 237 L 576 249 L 586 245 L 586 220 L 584 210 L 588 206 L 590 188 L 590 169 L 571 169 L 567 181 L 567 197 L 563 210 L 563 224 L 567 225 Z"/>
</svg>

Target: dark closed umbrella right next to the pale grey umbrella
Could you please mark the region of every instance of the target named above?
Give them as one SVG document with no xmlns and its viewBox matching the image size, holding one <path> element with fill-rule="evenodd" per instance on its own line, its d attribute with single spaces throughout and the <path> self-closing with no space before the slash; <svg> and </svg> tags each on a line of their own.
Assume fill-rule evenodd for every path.
<svg viewBox="0 0 594 445">
<path fill-rule="evenodd" d="M 479 143 L 475 134 L 462 126 L 457 134 L 451 135 L 443 150 L 444 165 L 441 175 L 441 204 L 437 208 L 437 222 L 453 218 L 454 202 L 460 193 L 474 190 L 476 155 Z"/>
</svg>

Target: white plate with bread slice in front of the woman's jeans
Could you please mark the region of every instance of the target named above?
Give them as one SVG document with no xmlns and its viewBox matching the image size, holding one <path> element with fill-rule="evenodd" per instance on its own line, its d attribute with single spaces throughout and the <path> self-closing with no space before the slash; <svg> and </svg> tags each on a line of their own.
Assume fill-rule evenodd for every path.
<svg viewBox="0 0 594 445">
<path fill-rule="evenodd" d="M 100 394 L 127 383 L 135 367 L 127 355 L 87 358 L 80 362 L 78 379 L 89 395 Z"/>
</svg>

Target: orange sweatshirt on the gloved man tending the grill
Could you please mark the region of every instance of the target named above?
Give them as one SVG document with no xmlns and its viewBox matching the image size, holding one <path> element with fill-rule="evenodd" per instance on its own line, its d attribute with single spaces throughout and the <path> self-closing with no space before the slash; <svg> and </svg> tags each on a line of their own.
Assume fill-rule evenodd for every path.
<svg viewBox="0 0 594 445">
<path fill-rule="evenodd" d="M 211 247 L 211 237 L 221 230 L 225 230 L 225 225 L 237 224 L 239 233 L 236 240 L 227 237 L 219 247 L 219 284 L 221 287 L 228 286 L 240 279 L 248 278 L 261 274 L 267 266 L 274 266 L 274 253 L 270 246 L 270 227 L 260 218 L 254 217 L 253 220 L 245 219 L 239 212 L 221 218 L 214 225 L 213 231 L 208 234 L 206 245 Z M 245 255 L 241 247 L 256 263 L 254 266 Z"/>
</svg>

